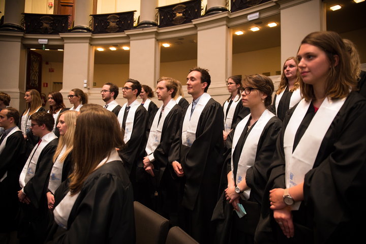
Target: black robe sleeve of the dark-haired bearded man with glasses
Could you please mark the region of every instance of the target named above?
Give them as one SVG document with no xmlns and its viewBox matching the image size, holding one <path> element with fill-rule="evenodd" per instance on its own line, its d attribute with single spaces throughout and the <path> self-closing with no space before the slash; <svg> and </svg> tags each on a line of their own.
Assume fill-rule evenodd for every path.
<svg viewBox="0 0 366 244">
<path fill-rule="evenodd" d="M 143 158 L 145 151 L 143 147 L 146 145 L 146 134 L 144 132 L 146 131 L 147 121 L 147 111 L 140 105 L 135 112 L 131 138 L 126 143 L 124 149 L 118 152 L 129 175 L 133 165 L 136 165 L 136 160 Z"/>
</svg>

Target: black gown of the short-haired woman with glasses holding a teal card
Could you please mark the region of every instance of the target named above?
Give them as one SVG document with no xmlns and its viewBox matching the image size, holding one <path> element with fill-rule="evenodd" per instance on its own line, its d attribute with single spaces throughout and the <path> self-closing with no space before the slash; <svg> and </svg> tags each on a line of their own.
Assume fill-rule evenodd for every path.
<svg viewBox="0 0 366 244">
<path fill-rule="evenodd" d="M 235 177 L 242 147 L 246 143 L 247 137 L 252 128 L 256 125 L 253 124 L 251 129 L 247 132 L 249 121 L 250 119 L 248 120 L 245 130 L 239 132 L 241 136 L 234 150 L 233 173 Z M 281 131 L 281 126 L 282 121 L 275 116 L 270 118 L 263 128 L 258 141 L 254 165 L 248 169 L 246 174 L 246 183 L 248 187 L 250 187 L 251 193 L 248 200 L 240 199 L 240 203 L 243 204 L 247 211 L 247 215 L 241 219 L 239 219 L 236 212 L 233 211 L 232 204 L 229 203 L 229 201 L 226 201 L 224 192 L 228 184 L 227 174 L 231 171 L 232 149 L 231 147 L 229 148 L 220 184 L 220 191 L 222 192 L 222 195 L 215 207 L 214 214 L 212 215 L 212 220 L 216 225 L 215 243 L 236 243 L 240 242 L 243 238 L 246 240 L 245 243 L 251 243 L 253 241 L 255 227 L 260 215 L 259 209 L 261 207 L 263 191 L 268 180 L 267 171 L 272 163 L 272 157 L 275 153 L 276 141 Z M 233 131 L 228 135 L 227 140 L 230 141 L 230 144 L 232 144 L 234 133 L 235 129 L 233 129 Z"/>
</svg>

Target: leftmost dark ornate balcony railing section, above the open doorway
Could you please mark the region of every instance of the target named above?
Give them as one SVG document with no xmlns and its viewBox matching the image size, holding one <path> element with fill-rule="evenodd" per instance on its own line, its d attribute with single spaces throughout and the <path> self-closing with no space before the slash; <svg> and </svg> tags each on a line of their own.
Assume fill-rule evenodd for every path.
<svg viewBox="0 0 366 244">
<path fill-rule="evenodd" d="M 68 32 L 69 15 L 29 13 L 23 15 L 26 34 L 56 35 Z"/>
</svg>

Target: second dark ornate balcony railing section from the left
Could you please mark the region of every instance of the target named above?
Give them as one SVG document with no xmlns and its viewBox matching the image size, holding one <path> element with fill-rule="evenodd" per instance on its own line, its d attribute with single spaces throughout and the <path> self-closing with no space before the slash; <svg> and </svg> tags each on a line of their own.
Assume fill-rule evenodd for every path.
<svg viewBox="0 0 366 244">
<path fill-rule="evenodd" d="M 136 11 L 90 15 L 92 16 L 93 33 L 119 33 L 132 29 L 134 25 L 135 12 Z"/>
</svg>

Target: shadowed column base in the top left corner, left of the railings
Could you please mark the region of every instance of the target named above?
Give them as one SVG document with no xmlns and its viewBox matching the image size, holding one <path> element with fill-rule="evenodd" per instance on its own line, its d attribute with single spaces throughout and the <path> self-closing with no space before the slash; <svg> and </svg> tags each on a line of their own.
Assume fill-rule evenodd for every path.
<svg viewBox="0 0 366 244">
<path fill-rule="evenodd" d="M 25 0 L 6 0 L 4 11 L 4 24 L 0 31 L 24 32 L 21 19 L 24 12 Z"/>
</svg>

